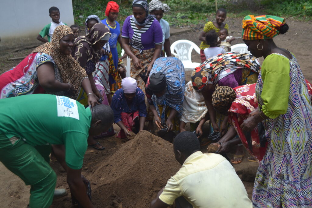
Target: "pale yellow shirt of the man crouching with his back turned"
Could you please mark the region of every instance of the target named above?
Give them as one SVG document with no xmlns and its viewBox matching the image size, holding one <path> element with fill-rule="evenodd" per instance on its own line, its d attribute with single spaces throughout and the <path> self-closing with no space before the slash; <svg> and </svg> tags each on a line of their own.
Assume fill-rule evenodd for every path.
<svg viewBox="0 0 312 208">
<path fill-rule="evenodd" d="M 232 165 L 214 153 L 191 154 L 171 177 L 159 199 L 172 205 L 179 196 L 193 207 L 252 207 L 246 189 Z"/>
</svg>

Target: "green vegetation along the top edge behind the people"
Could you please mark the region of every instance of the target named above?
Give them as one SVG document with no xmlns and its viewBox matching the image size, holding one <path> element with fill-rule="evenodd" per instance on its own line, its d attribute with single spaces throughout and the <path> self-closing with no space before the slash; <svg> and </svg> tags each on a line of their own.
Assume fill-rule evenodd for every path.
<svg viewBox="0 0 312 208">
<path fill-rule="evenodd" d="M 105 18 L 105 8 L 109 0 L 72 0 L 75 23 L 84 27 L 85 19 L 95 14 Z M 115 0 L 119 6 L 118 22 L 123 24 L 125 17 L 132 14 L 131 0 Z M 149 0 L 148 0 L 149 1 Z M 165 19 L 171 26 L 204 24 L 215 17 L 215 0 L 165 0 L 171 10 Z M 244 17 L 248 14 L 271 14 L 282 17 L 295 17 L 300 20 L 312 19 L 311 0 L 217 0 L 218 8 L 224 7 L 228 17 Z"/>
</svg>

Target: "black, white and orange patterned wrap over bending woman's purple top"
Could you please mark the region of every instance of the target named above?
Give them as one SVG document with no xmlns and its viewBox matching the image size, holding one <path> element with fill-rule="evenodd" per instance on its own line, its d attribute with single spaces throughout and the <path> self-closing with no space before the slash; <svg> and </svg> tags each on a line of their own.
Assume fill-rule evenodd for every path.
<svg viewBox="0 0 312 208">
<path fill-rule="evenodd" d="M 256 83 L 260 70 L 260 64 L 255 56 L 247 53 L 228 52 L 214 56 L 192 72 L 192 82 L 194 89 L 202 89 L 207 84 L 212 84 L 210 90 L 212 94 L 215 86 L 229 86 L 231 88 L 246 84 Z M 207 80 L 203 83 L 203 79 Z M 200 87 L 198 87 L 200 86 Z M 216 112 L 216 123 L 220 128 L 224 120 L 224 115 Z M 229 127 L 229 126 L 228 126 Z M 210 123 L 210 132 L 213 132 Z"/>
</svg>

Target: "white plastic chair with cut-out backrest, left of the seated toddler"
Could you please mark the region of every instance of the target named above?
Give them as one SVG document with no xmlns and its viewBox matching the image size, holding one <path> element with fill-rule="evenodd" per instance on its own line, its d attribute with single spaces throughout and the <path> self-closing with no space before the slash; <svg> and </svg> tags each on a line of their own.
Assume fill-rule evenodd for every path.
<svg viewBox="0 0 312 208">
<path fill-rule="evenodd" d="M 176 58 L 180 59 L 184 65 L 184 68 L 187 68 L 189 70 L 193 70 L 200 65 L 200 63 L 192 62 L 191 56 L 193 49 L 198 54 L 200 54 L 199 47 L 189 40 L 178 40 L 170 46 L 171 54 Z"/>
</svg>

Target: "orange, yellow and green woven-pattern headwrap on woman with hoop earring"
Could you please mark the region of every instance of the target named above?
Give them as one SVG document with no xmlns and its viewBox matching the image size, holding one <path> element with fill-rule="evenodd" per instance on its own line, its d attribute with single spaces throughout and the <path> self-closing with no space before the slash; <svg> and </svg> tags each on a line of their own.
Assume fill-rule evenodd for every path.
<svg viewBox="0 0 312 208">
<path fill-rule="evenodd" d="M 241 36 L 245 40 L 270 39 L 277 36 L 285 19 L 272 15 L 247 15 L 243 19 Z"/>
</svg>

